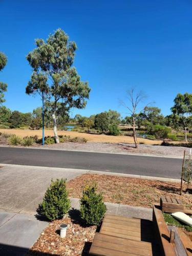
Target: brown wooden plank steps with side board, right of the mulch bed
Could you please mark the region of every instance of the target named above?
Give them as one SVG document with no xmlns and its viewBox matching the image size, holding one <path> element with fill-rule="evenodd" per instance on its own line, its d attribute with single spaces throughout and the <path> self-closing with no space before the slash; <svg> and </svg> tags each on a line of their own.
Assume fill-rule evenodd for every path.
<svg viewBox="0 0 192 256">
<path fill-rule="evenodd" d="M 154 206 L 153 222 L 106 215 L 100 232 L 95 234 L 90 255 L 176 256 L 176 251 L 174 242 L 170 243 L 170 234 L 162 212 L 158 206 Z"/>
</svg>

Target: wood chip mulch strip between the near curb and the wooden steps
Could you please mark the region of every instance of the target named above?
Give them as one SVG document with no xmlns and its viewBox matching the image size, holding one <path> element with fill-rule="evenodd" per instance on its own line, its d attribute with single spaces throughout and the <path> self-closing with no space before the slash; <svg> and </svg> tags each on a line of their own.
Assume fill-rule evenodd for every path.
<svg viewBox="0 0 192 256">
<path fill-rule="evenodd" d="M 98 174 L 84 174 L 67 182 L 70 197 L 80 198 L 84 184 L 92 181 L 97 182 L 105 202 L 151 208 L 154 203 L 159 204 L 160 197 L 169 196 L 180 199 L 187 208 L 192 207 L 191 194 L 179 195 L 180 183 Z"/>
</svg>

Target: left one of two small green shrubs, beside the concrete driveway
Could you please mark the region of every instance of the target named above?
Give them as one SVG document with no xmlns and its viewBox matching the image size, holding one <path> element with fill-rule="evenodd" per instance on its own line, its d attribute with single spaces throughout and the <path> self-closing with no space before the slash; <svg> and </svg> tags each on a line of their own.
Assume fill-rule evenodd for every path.
<svg viewBox="0 0 192 256">
<path fill-rule="evenodd" d="M 39 205 L 39 213 L 49 221 L 62 219 L 71 207 L 66 189 L 66 180 L 51 180 L 42 203 Z"/>
</svg>

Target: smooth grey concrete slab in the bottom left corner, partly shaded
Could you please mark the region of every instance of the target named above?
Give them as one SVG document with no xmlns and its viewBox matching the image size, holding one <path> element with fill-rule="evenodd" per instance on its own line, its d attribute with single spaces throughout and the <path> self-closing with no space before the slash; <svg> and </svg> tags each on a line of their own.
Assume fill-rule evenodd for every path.
<svg viewBox="0 0 192 256">
<path fill-rule="evenodd" d="M 47 225 L 34 216 L 0 211 L 0 255 L 25 255 Z"/>
</svg>

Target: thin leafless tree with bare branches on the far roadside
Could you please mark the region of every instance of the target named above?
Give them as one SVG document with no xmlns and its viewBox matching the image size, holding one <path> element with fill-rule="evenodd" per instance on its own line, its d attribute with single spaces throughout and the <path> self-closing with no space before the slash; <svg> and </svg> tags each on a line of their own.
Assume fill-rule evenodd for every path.
<svg viewBox="0 0 192 256">
<path fill-rule="evenodd" d="M 130 105 L 127 105 L 123 101 L 121 101 L 121 105 L 123 105 L 127 110 L 129 110 L 132 119 L 133 119 L 133 139 L 135 142 L 135 147 L 138 148 L 138 141 L 137 141 L 137 135 L 136 135 L 136 115 L 139 107 L 139 104 L 146 98 L 146 95 L 142 92 L 139 91 L 138 93 L 135 93 L 134 89 L 131 89 L 126 92 L 127 94 L 127 99 L 130 101 Z M 139 111 L 141 112 L 141 110 Z"/>
</svg>

